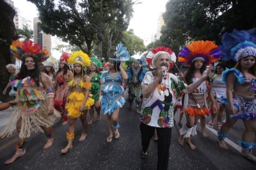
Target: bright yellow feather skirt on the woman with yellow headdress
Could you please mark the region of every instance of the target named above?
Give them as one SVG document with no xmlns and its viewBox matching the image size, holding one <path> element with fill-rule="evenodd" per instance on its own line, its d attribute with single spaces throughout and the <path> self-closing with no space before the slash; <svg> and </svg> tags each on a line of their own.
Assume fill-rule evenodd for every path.
<svg viewBox="0 0 256 170">
<path fill-rule="evenodd" d="M 90 107 L 94 104 L 94 100 L 90 97 L 88 97 L 88 100 L 86 101 L 86 104 L 84 106 L 84 110 L 90 109 Z M 70 94 L 68 97 L 68 105 L 67 105 L 67 111 L 68 116 L 70 118 L 79 118 L 83 112 L 79 111 L 79 107 L 84 101 L 84 93 L 79 93 L 77 91 L 74 91 Z"/>
</svg>

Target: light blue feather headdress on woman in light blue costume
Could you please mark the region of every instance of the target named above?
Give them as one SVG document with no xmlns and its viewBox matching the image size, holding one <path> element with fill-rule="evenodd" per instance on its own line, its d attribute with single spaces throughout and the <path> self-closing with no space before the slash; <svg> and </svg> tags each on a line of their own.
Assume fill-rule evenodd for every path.
<svg viewBox="0 0 256 170">
<path fill-rule="evenodd" d="M 116 46 L 116 52 L 114 53 L 115 58 L 109 58 L 109 61 L 127 61 L 130 59 L 131 55 L 126 50 L 122 42 L 118 43 Z"/>
</svg>

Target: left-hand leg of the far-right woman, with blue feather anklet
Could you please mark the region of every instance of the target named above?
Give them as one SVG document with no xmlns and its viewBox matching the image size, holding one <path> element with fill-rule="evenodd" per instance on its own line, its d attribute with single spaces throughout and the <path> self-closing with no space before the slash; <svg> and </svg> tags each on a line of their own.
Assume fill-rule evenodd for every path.
<svg viewBox="0 0 256 170">
<path fill-rule="evenodd" d="M 218 132 L 219 145 L 221 148 L 227 149 L 225 138 L 228 135 L 230 128 L 236 123 L 236 119 L 230 118 L 230 114 L 226 111 L 226 122 L 221 126 Z"/>
</svg>

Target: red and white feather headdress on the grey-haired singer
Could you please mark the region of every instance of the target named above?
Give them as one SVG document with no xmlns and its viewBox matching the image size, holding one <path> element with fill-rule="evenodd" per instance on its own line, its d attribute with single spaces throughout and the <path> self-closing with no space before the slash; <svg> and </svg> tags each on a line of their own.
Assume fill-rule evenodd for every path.
<svg viewBox="0 0 256 170">
<path fill-rule="evenodd" d="M 155 68 L 154 63 L 156 63 L 158 56 L 156 56 L 157 52 L 165 52 L 170 56 L 170 59 L 172 62 L 176 62 L 176 55 L 172 51 L 172 49 L 169 49 L 168 47 L 156 47 L 155 49 L 152 49 L 152 51 L 148 52 L 147 54 L 147 62 L 148 65 L 152 68 Z"/>
</svg>

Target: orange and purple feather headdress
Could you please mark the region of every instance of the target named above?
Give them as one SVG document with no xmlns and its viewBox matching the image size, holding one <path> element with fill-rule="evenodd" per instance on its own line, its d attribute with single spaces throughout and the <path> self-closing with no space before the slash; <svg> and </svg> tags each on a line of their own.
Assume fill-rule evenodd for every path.
<svg viewBox="0 0 256 170">
<path fill-rule="evenodd" d="M 195 59 L 202 59 L 204 65 L 210 65 L 221 58 L 221 50 L 211 41 L 197 41 L 183 47 L 178 58 L 187 66 L 190 66 Z"/>
</svg>

